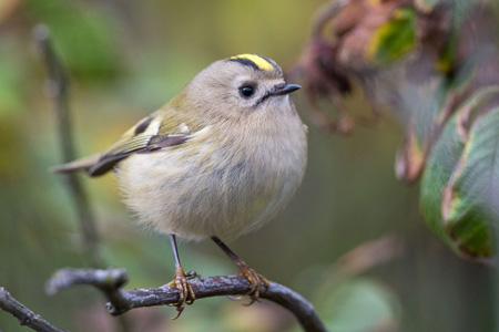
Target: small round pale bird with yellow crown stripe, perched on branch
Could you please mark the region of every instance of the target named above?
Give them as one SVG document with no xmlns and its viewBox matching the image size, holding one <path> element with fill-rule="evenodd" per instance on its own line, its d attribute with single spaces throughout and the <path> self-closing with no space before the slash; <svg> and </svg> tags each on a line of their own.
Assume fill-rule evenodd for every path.
<svg viewBox="0 0 499 332">
<path fill-rule="evenodd" d="M 111 169 L 140 224 L 169 235 L 179 290 L 177 318 L 195 300 L 176 237 L 211 238 L 251 283 L 252 303 L 268 281 L 222 240 L 256 230 L 299 186 L 307 163 L 307 127 L 282 69 L 240 54 L 201 71 L 166 105 L 142 118 L 104 152 L 51 168 L 99 176 Z"/>
</svg>

